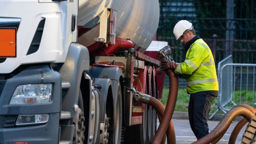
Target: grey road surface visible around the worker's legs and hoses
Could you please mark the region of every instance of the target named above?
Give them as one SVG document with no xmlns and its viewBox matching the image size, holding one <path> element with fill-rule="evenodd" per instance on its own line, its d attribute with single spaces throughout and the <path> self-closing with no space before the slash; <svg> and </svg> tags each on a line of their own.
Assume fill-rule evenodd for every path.
<svg viewBox="0 0 256 144">
<path fill-rule="evenodd" d="M 176 135 L 176 144 L 190 144 L 195 142 L 197 139 L 194 136 L 194 133 L 192 132 L 189 121 L 188 120 L 181 120 L 181 119 L 172 119 L 174 129 L 175 129 L 175 135 Z M 232 133 L 232 130 L 236 126 L 238 122 L 234 121 L 225 135 L 221 138 L 221 140 L 218 142 L 218 144 L 228 144 L 228 140 L 230 137 L 230 134 Z M 219 124 L 219 121 L 208 121 L 209 125 L 209 132 L 213 130 L 217 125 Z M 159 121 L 157 122 L 157 127 L 159 126 Z M 244 130 L 246 128 L 247 124 L 243 127 L 243 129 L 240 131 L 237 139 L 236 144 L 240 144 L 242 142 L 242 135 L 244 133 Z M 166 142 L 167 144 L 167 142 Z"/>
</svg>

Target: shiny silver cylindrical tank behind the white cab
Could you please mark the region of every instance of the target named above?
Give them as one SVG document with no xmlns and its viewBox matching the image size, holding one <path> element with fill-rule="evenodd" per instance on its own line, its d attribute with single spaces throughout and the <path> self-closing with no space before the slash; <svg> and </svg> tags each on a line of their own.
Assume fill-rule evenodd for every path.
<svg viewBox="0 0 256 144">
<path fill-rule="evenodd" d="M 85 26 L 93 18 L 100 16 L 102 6 L 117 11 L 116 37 L 130 39 L 134 42 L 135 50 L 144 53 L 150 45 L 159 22 L 158 0 L 84 0 L 79 1 L 77 24 Z M 94 5 L 92 4 L 94 3 Z M 93 9 L 94 8 L 94 9 Z M 91 9 L 91 11 L 89 11 Z M 96 10 L 97 9 L 97 10 Z M 78 38 L 85 46 L 94 43 L 98 37 L 99 25 Z"/>
</svg>

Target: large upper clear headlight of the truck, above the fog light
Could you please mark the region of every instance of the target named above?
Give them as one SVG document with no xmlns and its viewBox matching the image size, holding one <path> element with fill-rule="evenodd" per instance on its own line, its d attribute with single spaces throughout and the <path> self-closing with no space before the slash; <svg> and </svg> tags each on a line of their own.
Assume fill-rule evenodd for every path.
<svg viewBox="0 0 256 144">
<path fill-rule="evenodd" d="M 47 103 L 52 100 L 52 84 L 26 84 L 16 87 L 10 104 Z"/>
</svg>

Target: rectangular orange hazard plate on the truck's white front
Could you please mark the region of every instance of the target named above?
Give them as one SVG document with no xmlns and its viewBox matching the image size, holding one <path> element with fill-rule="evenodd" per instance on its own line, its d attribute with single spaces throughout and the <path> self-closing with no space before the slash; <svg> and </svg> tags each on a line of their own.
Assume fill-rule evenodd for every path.
<svg viewBox="0 0 256 144">
<path fill-rule="evenodd" d="M 17 28 L 0 27 L 0 58 L 16 57 Z"/>
</svg>

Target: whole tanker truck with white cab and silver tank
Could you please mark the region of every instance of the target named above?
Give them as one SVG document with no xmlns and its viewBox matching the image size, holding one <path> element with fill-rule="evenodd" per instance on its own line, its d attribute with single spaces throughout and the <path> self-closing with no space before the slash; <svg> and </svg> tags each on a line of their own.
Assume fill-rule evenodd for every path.
<svg viewBox="0 0 256 144">
<path fill-rule="evenodd" d="M 150 143 L 158 0 L 0 0 L 0 144 Z"/>
</svg>

